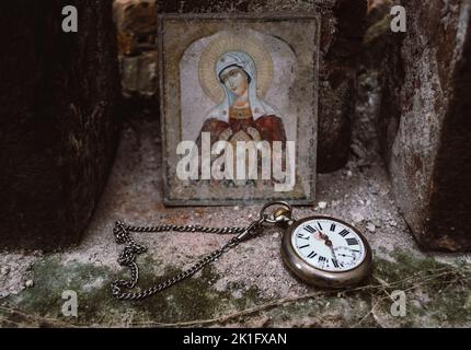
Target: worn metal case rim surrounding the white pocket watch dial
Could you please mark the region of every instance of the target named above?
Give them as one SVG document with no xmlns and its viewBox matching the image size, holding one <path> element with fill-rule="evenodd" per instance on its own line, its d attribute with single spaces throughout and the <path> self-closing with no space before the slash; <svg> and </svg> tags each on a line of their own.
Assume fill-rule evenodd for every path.
<svg viewBox="0 0 471 350">
<path fill-rule="evenodd" d="M 361 262 L 356 267 L 343 271 L 328 271 L 312 266 L 302 258 L 296 248 L 292 246 L 292 234 L 297 228 L 307 221 L 312 220 L 331 220 L 338 222 L 349 230 L 354 231 L 365 247 L 365 256 Z M 328 215 L 313 215 L 303 218 L 299 221 L 295 221 L 285 232 L 282 241 L 282 257 L 287 267 L 294 272 L 299 279 L 308 284 L 328 287 L 328 288 L 343 288 L 359 283 L 366 277 L 369 276 L 372 265 L 372 254 L 368 241 L 365 238 L 363 233 L 349 223 L 328 217 Z"/>
</svg>

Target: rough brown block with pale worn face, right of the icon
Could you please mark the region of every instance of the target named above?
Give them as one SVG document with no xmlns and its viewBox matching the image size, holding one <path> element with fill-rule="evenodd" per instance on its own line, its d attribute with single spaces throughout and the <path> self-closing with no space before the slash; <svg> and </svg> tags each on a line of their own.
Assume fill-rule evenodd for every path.
<svg viewBox="0 0 471 350">
<path fill-rule="evenodd" d="M 401 1 L 379 131 L 397 203 L 421 246 L 471 249 L 471 1 Z"/>
</svg>

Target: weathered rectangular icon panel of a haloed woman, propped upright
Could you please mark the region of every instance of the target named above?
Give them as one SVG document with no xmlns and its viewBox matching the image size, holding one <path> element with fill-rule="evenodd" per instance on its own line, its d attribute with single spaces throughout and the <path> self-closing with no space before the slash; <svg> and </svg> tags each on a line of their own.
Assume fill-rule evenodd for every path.
<svg viewBox="0 0 471 350">
<path fill-rule="evenodd" d="M 160 34 L 165 203 L 312 201 L 315 16 L 163 15 Z"/>
</svg>

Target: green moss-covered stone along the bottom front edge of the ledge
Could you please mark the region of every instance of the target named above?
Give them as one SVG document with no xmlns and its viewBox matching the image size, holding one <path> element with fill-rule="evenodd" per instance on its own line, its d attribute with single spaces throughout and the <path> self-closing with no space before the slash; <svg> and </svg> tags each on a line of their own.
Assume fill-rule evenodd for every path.
<svg viewBox="0 0 471 350">
<path fill-rule="evenodd" d="M 352 292 L 325 292 L 311 299 L 301 299 L 259 313 L 233 319 L 238 324 L 265 319 L 267 326 L 296 327 L 420 327 L 470 326 L 470 269 L 464 264 L 448 265 L 433 258 L 417 257 L 414 253 L 394 250 L 394 261 L 375 258 L 374 277 L 365 289 Z M 141 288 L 147 288 L 181 270 L 165 267 L 163 277 L 156 276 L 161 264 L 152 257 L 141 260 Z M 21 313 L 8 315 L 11 325 L 35 324 L 150 326 L 217 318 L 263 305 L 269 300 L 262 298 L 256 288 L 228 283 L 226 291 L 211 285 L 220 279 L 211 266 L 196 277 L 145 301 L 123 302 L 111 296 L 110 283 L 117 277 L 127 278 L 127 271 L 116 276 L 108 267 L 71 261 L 64 264 L 57 257 L 37 260 L 33 268 L 35 285 L 19 295 L 3 300 Z M 382 285 L 381 285 L 382 283 Z M 78 293 L 78 318 L 65 317 L 61 293 Z M 391 315 L 394 290 L 406 293 L 405 317 Z M 234 298 L 233 292 L 240 293 Z M 311 291 L 315 292 L 315 289 Z M 10 325 L 10 324 L 9 324 Z"/>
</svg>

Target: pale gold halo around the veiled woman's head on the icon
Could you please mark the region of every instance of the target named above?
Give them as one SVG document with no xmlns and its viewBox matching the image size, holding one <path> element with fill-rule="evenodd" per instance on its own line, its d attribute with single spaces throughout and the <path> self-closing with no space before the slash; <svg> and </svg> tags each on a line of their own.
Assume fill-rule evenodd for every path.
<svg viewBox="0 0 471 350">
<path fill-rule="evenodd" d="M 256 69 L 256 93 L 259 97 L 263 97 L 273 79 L 272 56 L 260 40 L 233 32 L 221 33 L 209 43 L 199 58 L 199 84 L 205 94 L 215 103 L 221 103 L 225 98 L 225 92 L 216 77 L 215 67 L 217 60 L 229 51 L 243 51 L 252 57 Z"/>
</svg>

